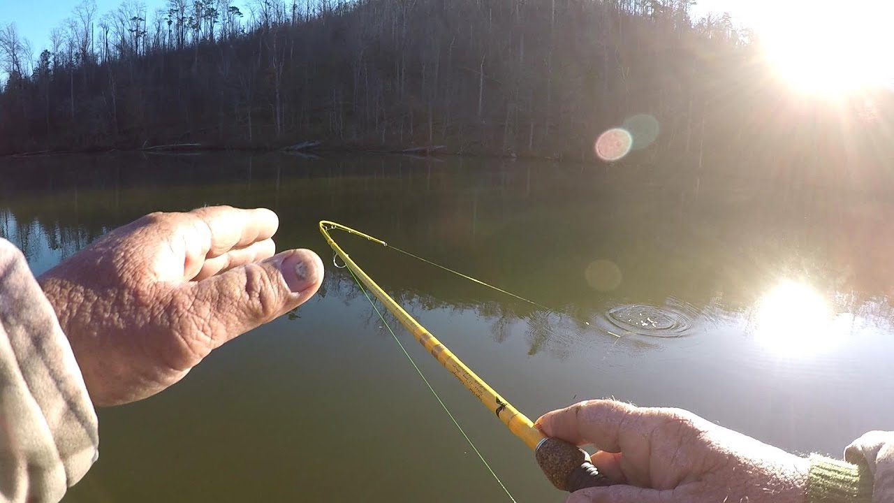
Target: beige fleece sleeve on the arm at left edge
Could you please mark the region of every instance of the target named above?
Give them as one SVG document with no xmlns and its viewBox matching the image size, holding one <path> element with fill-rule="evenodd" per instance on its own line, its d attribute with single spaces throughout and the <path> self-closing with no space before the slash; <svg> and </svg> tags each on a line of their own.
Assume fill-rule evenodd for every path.
<svg viewBox="0 0 894 503">
<path fill-rule="evenodd" d="M 0 239 L 0 501 L 62 499 L 98 446 L 97 414 L 53 307 Z"/>
</svg>

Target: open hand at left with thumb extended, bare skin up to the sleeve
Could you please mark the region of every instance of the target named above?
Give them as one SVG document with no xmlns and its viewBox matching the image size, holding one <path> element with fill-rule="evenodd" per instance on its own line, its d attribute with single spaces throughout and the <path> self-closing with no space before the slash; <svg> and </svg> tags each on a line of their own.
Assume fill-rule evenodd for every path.
<svg viewBox="0 0 894 503">
<path fill-rule="evenodd" d="M 315 294 L 322 261 L 274 255 L 278 225 L 268 209 L 153 213 L 39 277 L 94 404 L 154 395 Z"/>
</svg>

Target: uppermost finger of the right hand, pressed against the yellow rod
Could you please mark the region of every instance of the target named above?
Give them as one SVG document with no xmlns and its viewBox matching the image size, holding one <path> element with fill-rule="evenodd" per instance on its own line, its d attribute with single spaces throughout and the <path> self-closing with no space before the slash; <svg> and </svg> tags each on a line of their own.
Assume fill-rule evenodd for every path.
<svg viewBox="0 0 894 503">
<path fill-rule="evenodd" d="M 601 450 L 620 452 L 621 425 L 630 416 L 638 415 L 637 407 L 615 400 L 587 400 L 542 415 L 535 425 L 547 437 L 557 437 L 578 446 L 594 444 Z M 641 432 L 647 441 L 646 433 Z"/>
</svg>

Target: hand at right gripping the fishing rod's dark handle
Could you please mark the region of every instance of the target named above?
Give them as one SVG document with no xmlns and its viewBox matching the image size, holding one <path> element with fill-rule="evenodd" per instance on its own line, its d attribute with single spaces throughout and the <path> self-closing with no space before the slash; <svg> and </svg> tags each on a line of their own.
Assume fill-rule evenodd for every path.
<svg viewBox="0 0 894 503">
<path fill-rule="evenodd" d="M 578 446 L 617 484 L 569 503 L 804 503 L 808 461 L 679 409 L 589 400 L 536 427 Z"/>
</svg>

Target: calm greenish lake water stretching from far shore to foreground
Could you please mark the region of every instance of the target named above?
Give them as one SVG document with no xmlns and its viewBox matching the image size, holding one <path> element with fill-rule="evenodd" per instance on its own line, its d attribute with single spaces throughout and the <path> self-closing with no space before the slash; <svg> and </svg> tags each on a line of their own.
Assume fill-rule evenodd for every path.
<svg viewBox="0 0 894 503">
<path fill-rule="evenodd" d="M 839 456 L 864 431 L 894 430 L 894 207 L 809 180 L 459 158 L 5 159 L 0 235 L 39 274 L 150 211 L 266 207 L 279 249 L 327 266 L 291 316 L 158 396 L 100 410 L 99 461 L 65 501 L 508 501 L 316 222 L 550 306 L 336 235 L 532 420 L 615 396 Z M 527 448 L 397 334 L 515 498 L 562 501 Z"/>
</svg>

